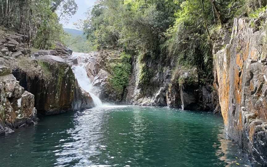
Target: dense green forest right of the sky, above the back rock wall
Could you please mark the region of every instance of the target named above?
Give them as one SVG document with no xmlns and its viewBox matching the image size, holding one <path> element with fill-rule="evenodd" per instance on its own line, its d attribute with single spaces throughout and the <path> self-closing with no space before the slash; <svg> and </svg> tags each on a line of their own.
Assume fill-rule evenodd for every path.
<svg viewBox="0 0 267 167">
<path fill-rule="evenodd" d="M 91 47 L 123 50 L 138 56 L 142 64 L 141 85 L 149 83 L 153 75 L 146 64 L 148 59 L 165 62 L 172 59 L 177 68 L 197 66 L 202 78 L 212 82 L 213 43 L 222 27 L 231 31 L 235 17 L 253 14 L 250 3 L 249 0 L 100 0 L 77 26 L 85 31 Z"/>
</svg>

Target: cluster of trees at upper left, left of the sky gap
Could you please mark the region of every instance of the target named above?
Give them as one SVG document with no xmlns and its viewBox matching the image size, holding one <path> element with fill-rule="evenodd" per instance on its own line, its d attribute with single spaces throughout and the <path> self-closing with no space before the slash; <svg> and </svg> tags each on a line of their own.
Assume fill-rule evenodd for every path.
<svg viewBox="0 0 267 167">
<path fill-rule="evenodd" d="M 53 49 L 56 42 L 64 42 L 66 33 L 61 21 L 76 13 L 74 0 L 1 0 L 0 25 L 7 31 L 29 35 L 29 46 Z"/>
</svg>

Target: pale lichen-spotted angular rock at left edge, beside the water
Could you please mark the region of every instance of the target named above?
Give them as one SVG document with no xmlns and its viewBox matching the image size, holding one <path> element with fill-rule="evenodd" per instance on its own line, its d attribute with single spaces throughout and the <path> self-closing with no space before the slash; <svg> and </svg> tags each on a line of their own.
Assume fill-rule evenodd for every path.
<svg viewBox="0 0 267 167">
<path fill-rule="evenodd" d="M 34 95 L 24 91 L 12 74 L 0 76 L 0 134 L 33 124 L 35 119 Z"/>
</svg>

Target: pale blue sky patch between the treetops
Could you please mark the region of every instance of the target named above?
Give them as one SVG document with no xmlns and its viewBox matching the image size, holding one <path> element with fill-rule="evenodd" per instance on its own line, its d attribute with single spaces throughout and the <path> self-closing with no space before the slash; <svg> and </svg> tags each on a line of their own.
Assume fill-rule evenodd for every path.
<svg viewBox="0 0 267 167">
<path fill-rule="evenodd" d="M 75 26 L 73 25 L 73 23 L 77 22 L 77 20 L 79 19 L 84 20 L 86 18 L 84 13 L 87 11 L 89 7 L 94 5 L 95 1 L 96 0 L 75 0 L 75 2 L 78 5 L 77 13 L 72 16 L 69 23 L 62 22 L 63 27 L 75 29 Z"/>
</svg>

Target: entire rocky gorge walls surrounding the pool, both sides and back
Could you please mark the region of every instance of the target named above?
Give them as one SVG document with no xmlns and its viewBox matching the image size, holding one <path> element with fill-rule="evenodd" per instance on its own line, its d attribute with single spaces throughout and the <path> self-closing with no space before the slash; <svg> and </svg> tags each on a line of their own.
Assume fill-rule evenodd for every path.
<svg viewBox="0 0 267 167">
<path fill-rule="evenodd" d="M 261 27 L 266 14 L 257 19 L 235 18 L 231 31 L 222 28 L 213 47 L 213 83 L 203 82 L 197 67 L 175 69 L 172 59 L 147 59 L 152 70 L 144 86 L 142 62 L 134 56 L 129 84 L 120 96 L 110 84 L 110 65 L 121 61 L 121 51 L 72 56 L 70 49 L 57 43 L 55 50 L 31 53 L 23 43 L 27 36 L 4 34 L 0 39 L 0 134 L 34 124 L 37 114 L 94 107 L 72 70 L 83 64 L 102 102 L 220 113 L 227 135 L 267 166 L 267 36 Z"/>
</svg>

